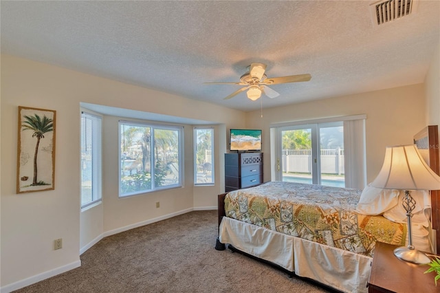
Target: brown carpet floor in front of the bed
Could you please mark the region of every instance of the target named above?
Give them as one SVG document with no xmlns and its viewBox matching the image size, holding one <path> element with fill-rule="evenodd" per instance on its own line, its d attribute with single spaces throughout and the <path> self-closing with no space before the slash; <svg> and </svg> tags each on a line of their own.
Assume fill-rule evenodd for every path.
<svg viewBox="0 0 440 293">
<path fill-rule="evenodd" d="M 81 266 L 15 292 L 329 292 L 231 250 L 214 249 L 217 210 L 105 237 Z"/>
</svg>

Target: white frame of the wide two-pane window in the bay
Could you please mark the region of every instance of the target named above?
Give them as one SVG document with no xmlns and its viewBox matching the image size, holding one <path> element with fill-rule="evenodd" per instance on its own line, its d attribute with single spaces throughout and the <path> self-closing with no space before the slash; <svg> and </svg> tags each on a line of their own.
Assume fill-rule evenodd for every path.
<svg viewBox="0 0 440 293">
<path fill-rule="evenodd" d="M 134 191 L 131 193 L 124 193 L 122 194 L 122 178 L 121 178 L 121 160 L 122 160 L 122 133 L 121 133 L 121 126 L 122 124 L 126 124 L 129 126 L 133 126 L 133 127 L 146 127 L 146 128 L 150 128 L 151 131 L 151 141 L 150 141 L 150 146 L 151 146 L 151 151 L 150 151 L 150 164 L 153 165 L 155 162 L 155 149 L 154 149 L 154 140 L 155 140 L 155 130 L 172 130 L 172 131 L 177 131 L 177 142 L 178 142 L 178 146 L 177 146 L 177 150 L 178 150 L 178 172 L 179 172 L 179 178 L 178 178 L 178 182 L 175 184 L 168 184 L 166 186 L 155 186 L 155 168 L 151 169 L 151 188 L 150 189 L 146 189 L 146 190 L 142 190 L 142 191 Z M 151 122 L 141 122 L 141 121 L 135 121 L 135 120 L 119 120 L 118 122 L 118 197 L 120 198 L 124 198 L 124 197 L 130 197 L 133 195 L 141 195 L 141 194 L 145 194 L 145 193 L 152 193 L 155 191 L 162 191 L 165 189 L 172 189 L 172 188 L 181 188 L 184 186 L 184 127 L 181 125 L 173 125 L 173 124 L 158 124 L 158 123 L 151 123 Z"/>
</svg>

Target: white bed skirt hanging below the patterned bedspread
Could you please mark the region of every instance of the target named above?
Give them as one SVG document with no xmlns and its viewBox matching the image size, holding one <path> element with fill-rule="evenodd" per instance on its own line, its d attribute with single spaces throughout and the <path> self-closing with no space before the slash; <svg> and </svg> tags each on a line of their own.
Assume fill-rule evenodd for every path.
<svg viewBox="0 0 440 293">
<path fill-rule="evenodd" d="M 223 217 L 219 240 L 342 292 L 367 292 L 371 257 Z"/>
</svg>

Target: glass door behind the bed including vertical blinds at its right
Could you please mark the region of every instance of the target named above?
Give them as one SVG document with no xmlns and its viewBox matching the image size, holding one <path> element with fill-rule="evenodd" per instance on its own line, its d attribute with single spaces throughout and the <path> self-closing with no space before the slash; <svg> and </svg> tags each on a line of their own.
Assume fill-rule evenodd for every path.
<svg viewBox="0 0 440 293">
<path fill-rule="evenodd" d="M 364 121 L 359 115 L 272 125 L 276 180 L 364 188 Z"/>
</svg>

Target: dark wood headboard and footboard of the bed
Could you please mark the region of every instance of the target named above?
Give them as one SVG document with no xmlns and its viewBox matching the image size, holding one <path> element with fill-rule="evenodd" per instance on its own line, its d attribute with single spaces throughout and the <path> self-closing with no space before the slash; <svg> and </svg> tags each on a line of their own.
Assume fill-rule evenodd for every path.
<svg viewBox="0 0 440 293">
<path fill-rule="evenodd" d="M 426 144 L 428 142 L 428 145 Z M 431 169 L 440 175 L 440 162 L 439 162 L 439 130 L 437 125 L 430 125 L 422 129 L 419 133 L 414 135 L 414 143 L 417 144 L 419 149 L 428 149 L 429 166 Z M 219 229 L 221 219 L 225 216 L 225 195 L 222 193 L 218 195 L 218 212 L 219 217 Z M 437 254 L 440 253 L 440 191 L 431 191 L 431 206 L 432 206 L 432 229 L 436 230 L 436 245 Z M 219 230 L 220 231 L 220 230 Z M 216 250 L 225 250 L 225 244 L 219 241 L 215 244 Z"/>
</svg>

